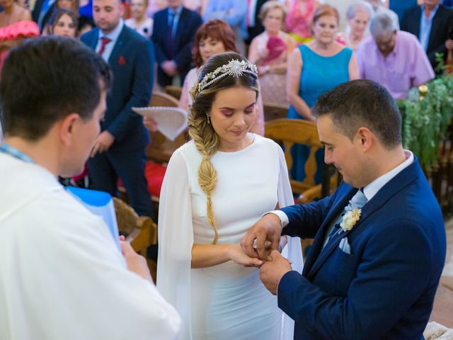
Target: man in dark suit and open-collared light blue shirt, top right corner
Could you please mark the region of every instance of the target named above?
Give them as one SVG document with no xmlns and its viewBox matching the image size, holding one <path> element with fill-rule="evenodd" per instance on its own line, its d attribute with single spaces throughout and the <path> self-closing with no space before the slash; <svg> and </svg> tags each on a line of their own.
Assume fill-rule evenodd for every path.
<svg viewBox="0 0 453 340">
<path fill-rule="evenodd" d="M 447 57 L 445 42 L 453 31 L 453 9 L 441 5 L 440 0 L 425 0 L 423 5 L 406 11 L 401 30 L 418 37 L 435 69 L 435 54 L 443 53 Z"/>
</svg>

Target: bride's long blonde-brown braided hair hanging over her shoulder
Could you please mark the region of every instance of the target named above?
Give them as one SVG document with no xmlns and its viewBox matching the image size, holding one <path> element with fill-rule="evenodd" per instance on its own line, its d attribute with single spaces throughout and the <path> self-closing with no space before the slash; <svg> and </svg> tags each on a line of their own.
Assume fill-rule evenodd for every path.
<svg viewBox="0 0 453 340">
<path fill-rule="evenodd" d="M 206 209 L 207 220 L 214 229 L 214 240 L 212 244 L 217 244 L 219 235 L 215 225 L 214 208 L 212 206 L 212 193 L 217 186 L 217 171 L 212 165 L 211 157 L 219 148 L 219 136 L 208 122 L 207 115 L 210 115 L 212 103 L 219 90 L 228 89 L 234 86 L 243 86 L 256 91 L 256 96 L 259 93 L 257 77 L 253 74 L 244 72 L 239 77 L 223 77 L 213 84 L 210 84 L 202 91 L 198 91 L 198 84 L 205 77 L 205 74 L 214 72 L 218 67 L 228 64 L 231 60 L 246 61 L 236 52 L 224 52 L 218 55 L 213 55 L 207 60 L 206 64 L 198 74 L 198 81 L 190 91 L 190 96 L 193 98 L 193 104 L 189 108 L 188 117 L 188 132 L 194 140 L 195 146 L 202 154 L 202 161 L 198 168 L 198 183 L 200 188 L 206 194 Z"/>
</svg>

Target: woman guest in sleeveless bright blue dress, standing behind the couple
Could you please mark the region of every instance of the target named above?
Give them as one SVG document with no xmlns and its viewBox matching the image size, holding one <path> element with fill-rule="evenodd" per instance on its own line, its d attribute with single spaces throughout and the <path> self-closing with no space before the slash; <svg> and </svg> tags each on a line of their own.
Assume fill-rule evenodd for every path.
<svg viewBox="0 0 453 340">
<path fill-rule="evenodd" d="M 291 106 L 287 118 L 314 120 L 310 108 L 321 94 L 345 81 L 358 79 L 359 69 L 352 50 L 336 42 L 338 23 L 336 8 L 329 5 L 319 6 L 313 17 L 314 40 L 294 49 L 289 56 L 287 96 Z M 292 179 L 304 180 L 304 168 L 309 152 L 309 147 L 304 145 L 292 147 Z M 323 149 L 316 152 L 315 157 L 318 165 L 315 181 L 321 183 Z"/>
</svg>

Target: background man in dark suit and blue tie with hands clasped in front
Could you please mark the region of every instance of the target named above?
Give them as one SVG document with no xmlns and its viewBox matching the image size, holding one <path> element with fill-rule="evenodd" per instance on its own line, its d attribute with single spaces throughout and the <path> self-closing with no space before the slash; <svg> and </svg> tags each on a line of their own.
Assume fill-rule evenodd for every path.
<svg viewBox="0 0 453 340">
<path fill-rule="evenodd" d="M 171 85 L 173 77 L 185 76 L 192 65 L 192 45 L 202 21 L 200 14 L 182 6 L 182 0 L 168 0 L 168 7 L 154 14 L 152 40 L 156 47 L 157 81 Z"/>
</svg>

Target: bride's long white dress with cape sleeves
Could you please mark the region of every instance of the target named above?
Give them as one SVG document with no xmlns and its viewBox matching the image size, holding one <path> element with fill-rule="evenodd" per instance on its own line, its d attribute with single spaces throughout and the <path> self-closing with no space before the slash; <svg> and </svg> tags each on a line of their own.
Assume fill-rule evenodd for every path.
<svg viewBox="0 0 453 340">
<path fill-rule="evenodd" d="M 263 213 L 294 203 L 282 149 L 272 140 L 253 137 L 245 149 L 216 152 L 211 158 L 218 178 L 212 201 L 219 244 L 239 244 Z M 258 268 L 228 261 L 190 269 L 193 243 L 212 244 L 214 239 L 198 184 L 201 159 L 193 141 L 176 150 L 159 203 L 157 288 L 183 319 L 178 339 L 292 339 L 292 322 L 286 316 L 282 321 L 277 297 L 260 282 Z M 300 240 L 290 239 L 285 252 L 294 270 L 301 271 Z"/>
</svg>

